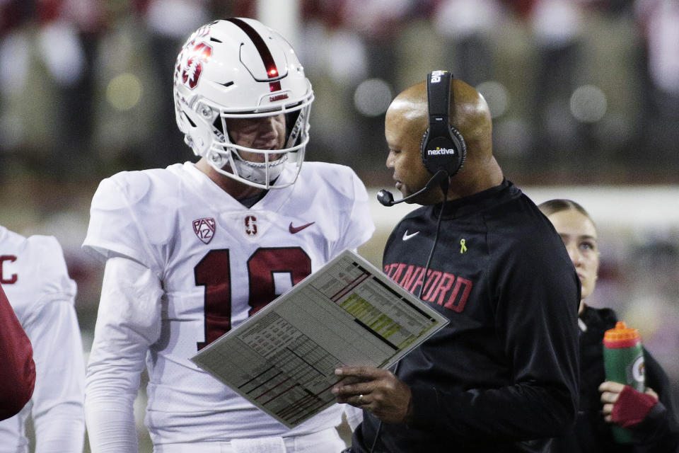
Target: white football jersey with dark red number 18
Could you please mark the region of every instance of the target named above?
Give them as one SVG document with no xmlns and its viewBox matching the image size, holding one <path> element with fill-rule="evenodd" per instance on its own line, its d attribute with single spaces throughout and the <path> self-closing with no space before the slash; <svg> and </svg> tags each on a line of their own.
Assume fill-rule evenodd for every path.
<svg viewBox="0 0 679 453">
<path fill-rule="evenodd" d="M 286 168 L 279 178 L 293 177 Z M 83 246 L 143 264 L 163 294 L 124 313 L 100 306 L 88 392 L 98 394 L 97 379 L 138 382 L 124 350 L 148 341 L 145 421 L 154 444 L 289 435 L 189 359 L 373 230 L 366 189 L 346 166 L 306 162 L 294 185 L 249 209 L 191 162 L 103 180 Z M 292 433 L 336 426 L 341 411 L 332 406 Z"/>
</svg>

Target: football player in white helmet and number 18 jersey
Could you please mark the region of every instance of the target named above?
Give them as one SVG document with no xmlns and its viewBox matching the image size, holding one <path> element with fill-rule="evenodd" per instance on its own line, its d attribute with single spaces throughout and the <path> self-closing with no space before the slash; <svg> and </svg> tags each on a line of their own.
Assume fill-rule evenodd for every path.
<svg viewBox="0 0 679 453">
<path fill-rule="evenodd" d="M 345 166 L 306 162 L 311 84 L 289 43 L 248 18 L 202 26 L 175 64 L 197 163 L 103 180 L 83 246 L 105 258 L 87 367 L 93 452 L 137 452 L 146 366 L 154 452 L 339 452 L 342 406 L 287 429 L 190 357 L 344 249 L 368 240 Z M 359 415 L 360 416 L 360 415 Z"/>
</svg>

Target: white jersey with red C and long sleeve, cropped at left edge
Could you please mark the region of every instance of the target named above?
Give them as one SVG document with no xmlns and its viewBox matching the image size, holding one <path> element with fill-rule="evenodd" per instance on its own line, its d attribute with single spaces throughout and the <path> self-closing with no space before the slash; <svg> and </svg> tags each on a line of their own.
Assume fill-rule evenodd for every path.
<svg viewBox="0 0 679 453">
<path fill-rule="evenodd" d="M 30 402 L 0 422 L 0 452 L 28 452 L 29 416 L 35 452 L 82 452 L 85 366 L 74 309 L 76 283 L 57 239 L 25 238 L 0 226 L 0 282 L 33 345 L 36 371 Z"/>
</svg>

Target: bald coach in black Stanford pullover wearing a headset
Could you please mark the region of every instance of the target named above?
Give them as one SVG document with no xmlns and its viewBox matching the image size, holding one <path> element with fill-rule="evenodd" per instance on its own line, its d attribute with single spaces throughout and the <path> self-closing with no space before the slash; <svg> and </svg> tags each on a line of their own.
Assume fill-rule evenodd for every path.
<svg viewBox="0 0 679 453">
<path fill-rule="evenodd" d="M 579 279 L 491 132 L 484 98 L 447 71 L 386 113 L 387 167 L 422 207 L 392 231 L 383 270 L 450 323 L 393 372 L 337 369 L 337 401 L 364 409 L 351 452 L 541 452 L 574 422 Z"/>
</svg>

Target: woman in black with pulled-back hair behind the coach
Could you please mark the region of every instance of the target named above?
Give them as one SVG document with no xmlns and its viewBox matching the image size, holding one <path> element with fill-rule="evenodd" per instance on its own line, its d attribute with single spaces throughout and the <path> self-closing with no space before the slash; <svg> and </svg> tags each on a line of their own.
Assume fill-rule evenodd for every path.
<svg viewBox="0 0 679 453">
<path fill-rule="evenodd" d="M 566 246 L 581 282 L 580 407 L 571 434 L 552 440 L 552 452 L 677 452 L 679 425 L 671 401 L 668 377 L 644 350 L 645 393 L 617 382 L 605 382 L 603 334 L 615 327 L 612 309 L 595 309 L 584 301 L 596 285 L 599 251 L 596 226 L 581 205 L 550 200 L 538 206 Z M 633 443 L 613 440 L 610 423 L 632 432 Z"/>
</svg>

